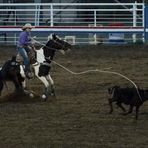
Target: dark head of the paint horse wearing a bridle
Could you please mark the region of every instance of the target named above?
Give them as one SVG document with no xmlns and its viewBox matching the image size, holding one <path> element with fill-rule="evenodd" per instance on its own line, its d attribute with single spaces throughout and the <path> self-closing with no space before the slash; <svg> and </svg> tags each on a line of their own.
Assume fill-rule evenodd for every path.
<svg viewBox="0 0 148 148">
<path fill-rule="evenodd" d="M 68 50 L 71 49 L 71 44 L 69 44 L 68 42 L 60 39 L 57 35 L 55 34 L 51 34 L 49 36 L 49 40 L 46 44 L 47 47 L 51 47 L 53 48 L 53 50 Z"/>
</svg>

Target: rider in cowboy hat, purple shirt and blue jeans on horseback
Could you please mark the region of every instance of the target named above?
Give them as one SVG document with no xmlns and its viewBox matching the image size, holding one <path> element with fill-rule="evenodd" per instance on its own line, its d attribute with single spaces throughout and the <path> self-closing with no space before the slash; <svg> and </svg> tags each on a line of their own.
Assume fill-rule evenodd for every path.
<svg viewBox="0 0 148 148">
<path fill-rule="evenodd" d="M 31 42 L 31 29 L 33 26 L 29 23 L 25 24 L 22 27 L 22 32 L 20 33 L 18 43 L 17 43 L 17 50 L 19 54 L 23 57 L 23 62 L 25 65 L 25 74 L 27 78 L 32 78 L 33 74 L 31 73 L 30 69 L 30 62 L 28 57 L 28 52 L 30 52 L 34 45 Z"/>
</svg>

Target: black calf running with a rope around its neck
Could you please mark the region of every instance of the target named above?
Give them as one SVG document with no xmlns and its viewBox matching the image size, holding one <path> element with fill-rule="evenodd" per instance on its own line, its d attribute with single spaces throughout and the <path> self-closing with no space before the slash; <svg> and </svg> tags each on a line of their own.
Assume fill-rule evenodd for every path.
<svg viewBox="0 0 148 148">
<path fill-rule="evenodd" d="M 136 107 L 136 116 L 138 119 L 139 107 L 148 100 L 148 90 L 137 89 L 136 88 L 121 88 L 120 86 L 113 86 L 108 89 L 108 93 L 110 98 L 108 99 L 110 105 L 110 113 L 113 112 L 112 102 L 116 102 L 117 106 L 119 106 L 124 115 L 130 114 L 133 111 L 134 106 Z M 122 106 L 122 103 L 129 105 L 129 110 L 126 112 L 125 108 Z"/>
</svg>

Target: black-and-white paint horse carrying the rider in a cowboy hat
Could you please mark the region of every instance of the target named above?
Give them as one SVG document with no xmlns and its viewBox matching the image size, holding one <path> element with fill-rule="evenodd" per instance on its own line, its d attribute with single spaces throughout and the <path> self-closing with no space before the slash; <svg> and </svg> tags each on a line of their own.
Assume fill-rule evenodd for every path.
<svg viewBox="0 0 148 148">
<path fill-rule="evenodd" d="M 52 34 L 49 36 L 47 43 L 41 47 L 39 50 L 35 50 L 35 57 L 32 58 L 31 60 L 31 66 L 34 71 L 34 75 L 41 80 L 41 82 L 45 86 L 45 90 L 42 94 L 43 99 L 47 99 L 49 95 L 55 95 L 54 91 L 54 81 L 52 80 L 50 76 L 50 64 L 54 58 L 54 55 L 56 51 L 66 51 L 68 49 L 71 49 L 71 44 L 68 42 L 61 40 L 59 37 L 57 37 L 55 34 Z M 14 58 L 13 58 L 14 59 Z M 17 60 L 15 60 L 16 62 Z M 13 66 L 13 60 L 11 62 L 7 61 L 4 65 L 8 68 L 4 68 L 5 66 L 2 67 L 4 76 L 3 80 L 9 79 L 14 82 L 16 90 L 23 90 L 26 87 L 25 83 L 25 73 L 24 73 L 24 66 L 19 65 L 17 66 L 17 62 Z M 16 73 L 15 79 L 14 76 L 10 77 L 10 73 L 12 72 L 12 67 L 14 72 Z M 17 67 L 17 68 L 16 68 Z M 18 68 L 19 67 L 19 68 Z M 15 69 L 16 68 L 16 69 Z M 1 85 L 1 84 L 0 84 Z M 2 89 L 0 88 L 0 91 Z M 51 90 L 51 91 L 50 91 Z"/>
</svg>

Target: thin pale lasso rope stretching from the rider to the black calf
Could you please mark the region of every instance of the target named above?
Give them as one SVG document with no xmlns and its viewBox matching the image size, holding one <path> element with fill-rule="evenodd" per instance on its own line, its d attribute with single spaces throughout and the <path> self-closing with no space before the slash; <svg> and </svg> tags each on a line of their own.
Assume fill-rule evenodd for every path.
<svg viewBox="0 0 148 148">
<path fill-rule="evenodd" d="M 35 40 L 36 41 L 36 40 Z M 41 44 L 40 42 L 36 41 L 38 44 L 40 45 L 43 45 L 43 46 L 46 46 L 44 44 Z M 39 53 L 40 54 L 40 53 Z M 43 55 L 42 55 L 43 56 Z M 46 58 L 48 59 L 48 58 Z M 50 59 L 49 59 L 50 60 Z M 71 70 L 69 70 L 68 68 L 66 68 L 65 66 L 55 62 L 54 60 L 50 60 L 52 61 L 54 64 L 58 65 L 59 67 L 63 68 L 64 70 L 68 71 L 69 73 L 73 74 L 73 75 L 82 75 L 82 74 L 86 74 L 86 73 L 91 73 L 91 72 L 100 72 L 100 73 L 108 73 L 108 74 L 114 74 L 114 75 L 118 75 L 126 80 L 128 80 L 129 82 L 131 82 L 134 87 L 136 88 L 136 91 L 137 91 L 137 94 L 139 96 L 139 99 L 142 101 L 142 98 L 141 98 L 141 95 L 139 93 L 139 90 L 138 90 L 138 87 L 137 85 L 131 80 L 129 79 L 128 77 L 124 76 L 123 74 L 121 73 L 118 73 L 118 72 L 114 72 L 114 71 L 109 71 L 109 70 L 101 70 L 101 69 L 94 69 L 94 70 L 86 70 L 86 71 L 82 71 L 82 72 L 73 72 Z M 109 68 L 105 68 L 105 69 L 109 69 Z"/>
</svg>

